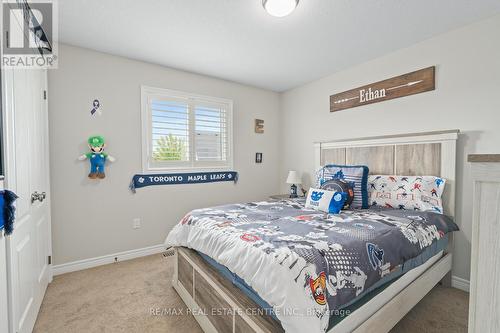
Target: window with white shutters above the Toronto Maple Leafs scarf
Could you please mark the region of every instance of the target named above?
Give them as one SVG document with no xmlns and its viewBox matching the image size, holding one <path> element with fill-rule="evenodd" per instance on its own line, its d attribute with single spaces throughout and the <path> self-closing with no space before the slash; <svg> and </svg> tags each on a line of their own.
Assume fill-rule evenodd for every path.
<svg viewBox="0 0 500 333">
<path fill-rule="evenodd" d="M 232 168 L 233 102 L 141 87 L 143 169 Z"/>
</svg>

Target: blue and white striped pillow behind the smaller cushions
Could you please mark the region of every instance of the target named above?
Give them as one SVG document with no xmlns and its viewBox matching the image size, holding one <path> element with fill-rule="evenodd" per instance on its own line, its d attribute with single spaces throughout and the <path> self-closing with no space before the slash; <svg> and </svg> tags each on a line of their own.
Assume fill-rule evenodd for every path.
<svg viewBox="0 0 500 333">
<path fill-rule="evenodd" d="M 354 188 L 354 199 L 351 207 L 354 209 L 368 208 L 368 172 L 365 165 L 328 164 L 316 171 L 316 187 L 330 179 L 342 179 L 351 183 Z"/>
</svg>

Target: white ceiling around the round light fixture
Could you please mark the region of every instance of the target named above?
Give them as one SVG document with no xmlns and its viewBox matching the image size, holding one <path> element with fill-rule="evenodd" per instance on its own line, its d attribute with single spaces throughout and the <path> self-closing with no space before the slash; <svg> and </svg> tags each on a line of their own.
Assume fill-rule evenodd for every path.
<svg viewBox="0 0 500 333">
<path fill-rule="evenodd" d="M 63 43 L 284 91 L 500 12 L 499 0 L 59 0 Z"/>
</svg>

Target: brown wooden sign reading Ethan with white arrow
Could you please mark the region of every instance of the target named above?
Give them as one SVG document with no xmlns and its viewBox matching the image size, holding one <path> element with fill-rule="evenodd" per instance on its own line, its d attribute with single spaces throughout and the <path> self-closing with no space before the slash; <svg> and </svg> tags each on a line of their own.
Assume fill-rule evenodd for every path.
<svg viewBox="0 0 500 333">
<path fill-rule="evenodd" d="M 396 76 L 330 96 L 330 112 L 386 101 L 435 89 L 435 67 Z"/>
</svg>

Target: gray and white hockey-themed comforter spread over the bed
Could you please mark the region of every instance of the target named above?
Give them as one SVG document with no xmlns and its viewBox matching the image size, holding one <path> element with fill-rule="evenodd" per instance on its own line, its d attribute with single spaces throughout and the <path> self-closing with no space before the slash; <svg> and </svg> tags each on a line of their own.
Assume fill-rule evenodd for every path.
<svg viewBox="0 0 500 333">
<path fill-rule="evenodd" d="M 167 237 L 226 266 L 287 332 L 324 332 L 335 314 L 405 261 L 458 230 L 441 214 L 383 208 L 329 215 L 304 200 L 193 210 Z"/>
</svg>

